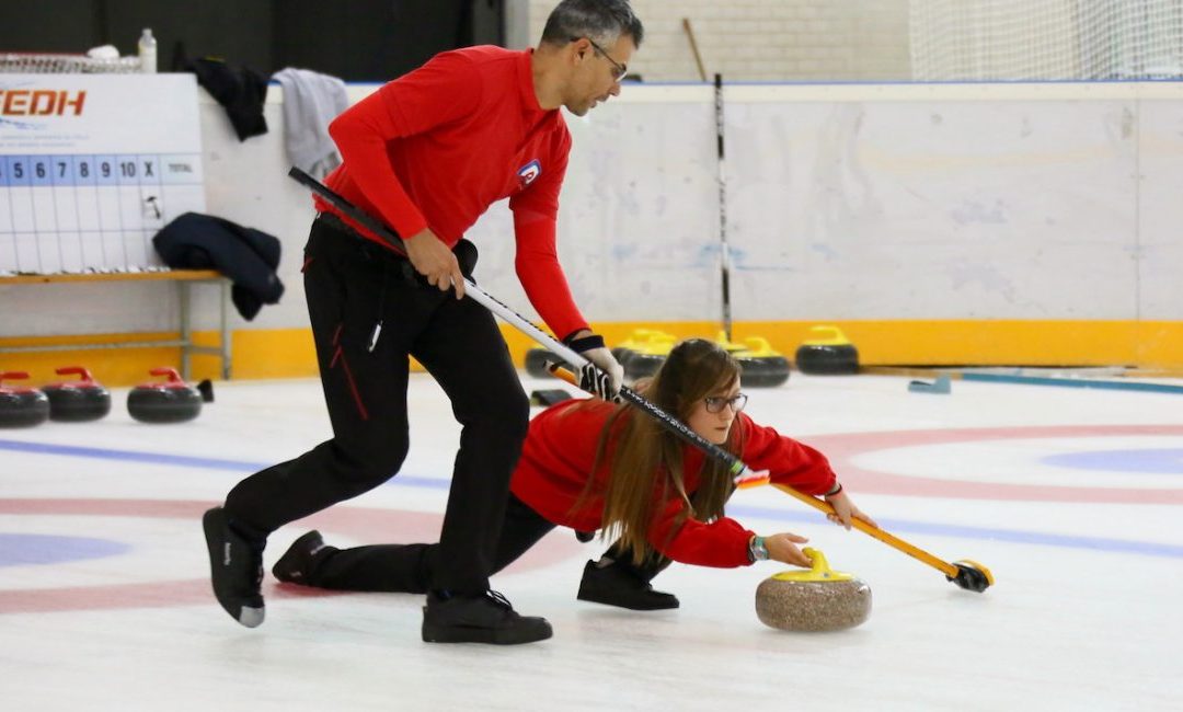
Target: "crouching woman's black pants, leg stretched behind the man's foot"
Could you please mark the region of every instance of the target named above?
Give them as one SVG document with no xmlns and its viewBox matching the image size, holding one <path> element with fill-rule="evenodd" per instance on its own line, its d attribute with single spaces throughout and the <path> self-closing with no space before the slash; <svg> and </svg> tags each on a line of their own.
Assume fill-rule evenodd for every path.
<svg viewBox="0 0 1183 712">
<path fill-rule="evenodd" d="M 505 523 L 493 555 L 496 574 L 534 546 L 555 525 L 509 496 Z M 304 583 L 343 591 L 422 594 L 432 588 L 437 570 L 446 565 L 440 544 L 374 544 L 325 549 L 305 571 Z"/>
</svg>

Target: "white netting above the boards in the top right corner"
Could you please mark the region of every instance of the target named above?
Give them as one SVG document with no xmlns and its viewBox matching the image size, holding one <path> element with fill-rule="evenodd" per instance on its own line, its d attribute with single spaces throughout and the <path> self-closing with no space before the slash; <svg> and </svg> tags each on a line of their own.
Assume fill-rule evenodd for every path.
<svg viewBox="0 0 1183 712">
<path fill-rule="evenodd" d="M 912 77 L 1183 77 L 1179 0 L 911 0 Z"/>
</svg>

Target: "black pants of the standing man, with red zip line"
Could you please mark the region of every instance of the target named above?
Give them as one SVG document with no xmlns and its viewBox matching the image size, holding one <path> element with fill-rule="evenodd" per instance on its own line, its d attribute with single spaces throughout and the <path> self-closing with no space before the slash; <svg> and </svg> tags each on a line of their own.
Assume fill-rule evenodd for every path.
<svg viewBox="0 0 1183 712">
<path fill-rule="evenodd" d="M 489 588 L 510 474 L 530 406 L 492 315 L 440 292 L 405 259 L 322 215 L 304 252 L 304 291 L 334 438 L 258 472 L 226 498 L 233 525 L 263 539 L 397 473 L 409 447 L 408 355 L 435 377 L 463 425 L 439 565 L 428 587 Z M 371 348 L 375 325 L 382 330 Z"/>
</svg>

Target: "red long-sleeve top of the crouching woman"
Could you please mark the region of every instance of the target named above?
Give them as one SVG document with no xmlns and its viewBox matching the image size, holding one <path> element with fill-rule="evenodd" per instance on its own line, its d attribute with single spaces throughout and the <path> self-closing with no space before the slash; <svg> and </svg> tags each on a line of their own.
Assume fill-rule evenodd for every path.
<svg viewBox="0 0 1183 712">
<path fill-rule="evenodd" d="M 586 404 L 584 404 L 586 403 Z M 565 401 L 539 413 L 530 421 L 530 432 L 510 488 L 536 512 L 562 526 L 577 531 L 595 531 L 602 524 L 603 494 L 608 478 L 608 454 L 595 473 L 596 446 L 608 416 L 615 406 L 603 401 Z M 774 483 L 790 485 L 808 494 L 822 494 L 833 488 L 836 478 L 826 457 L 812 447 L 778 434 L 770 427 L 739 414 L 732 427 L 743 428 L 743 452 L 739 459 L 752 470 L 767 470 Z M 704 454 L 686 445 L 683 452 L 687 492 L 698 487 Z M 584 505 L 571 511 L 589 477 L 595 478 Z M 720 517 L 711 523 L 687 517 L 674 530 L 675 517 L 686 509 L 673 496 L 661 503 L 649 527 L 649 543 L 673 561 L 703 567 L 732 568 L 746 565 L 751 531 L 735 519 Z M 671 538 L 670 533 L 673 531 Z"/>
</svg>

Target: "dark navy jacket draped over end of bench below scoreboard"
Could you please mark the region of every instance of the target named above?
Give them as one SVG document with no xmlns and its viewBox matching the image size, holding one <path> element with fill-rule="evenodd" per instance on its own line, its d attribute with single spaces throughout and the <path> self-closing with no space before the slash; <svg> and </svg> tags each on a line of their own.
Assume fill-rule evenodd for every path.
<svg viewBox="0 0 1183 712">
<path fill-rule="evenodd" d="M 284 293 L 276 270 L 280 245 L 273 235 L 222 218 L 185 213 L 151 239 L 164 264 L 174 270 L 218 270 L 230 278 L 231 299 L 251 321 L 264 304 Z"/>
</svg>

